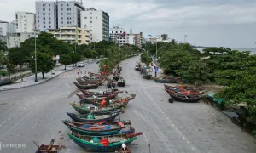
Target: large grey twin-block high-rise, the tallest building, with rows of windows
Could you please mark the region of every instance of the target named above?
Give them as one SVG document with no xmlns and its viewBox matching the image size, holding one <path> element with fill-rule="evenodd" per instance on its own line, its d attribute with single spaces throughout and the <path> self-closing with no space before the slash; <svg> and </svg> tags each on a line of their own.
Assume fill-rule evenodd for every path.
<svg viewBox="0 0 256 153">
<path fill-rule="evenodd" d="M 60 27 L 80 26 L 80 12 L 84 10 L 77 1 L 37 1 L 36 29 L 59 29 Z"/>
</svg>

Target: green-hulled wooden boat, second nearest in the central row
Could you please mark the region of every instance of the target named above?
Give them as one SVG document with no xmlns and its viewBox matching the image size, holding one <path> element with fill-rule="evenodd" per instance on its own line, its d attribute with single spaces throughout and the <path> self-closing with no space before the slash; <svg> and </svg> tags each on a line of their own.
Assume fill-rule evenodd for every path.
<svg viewBox="0 0 256 153">
<path fill-rule="evenodd" d="M 115 135 L 119 133 L 130 133 L 131 130 L 123 130 L 125 125 L 122 122 L 118 124 L 87 124 L 86 122 L 71 122 L 63 121 L 62 122 L 73 132 L 79 133 L 82 135 L 94 135 L 94 136 L 103 136 L 103 135 Z"/>
</svg>

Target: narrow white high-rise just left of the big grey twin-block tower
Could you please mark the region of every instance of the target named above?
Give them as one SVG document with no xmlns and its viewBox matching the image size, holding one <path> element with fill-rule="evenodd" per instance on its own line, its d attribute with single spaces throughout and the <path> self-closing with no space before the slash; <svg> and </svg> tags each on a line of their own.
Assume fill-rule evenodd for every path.
<svg viewBox="0 0 256 153">
<path fill-rule="evenodd" d="M 35 29 L 35 14 L 29 12 L 15 13 L 16 32 L 33 32 Z"/>
</svg>

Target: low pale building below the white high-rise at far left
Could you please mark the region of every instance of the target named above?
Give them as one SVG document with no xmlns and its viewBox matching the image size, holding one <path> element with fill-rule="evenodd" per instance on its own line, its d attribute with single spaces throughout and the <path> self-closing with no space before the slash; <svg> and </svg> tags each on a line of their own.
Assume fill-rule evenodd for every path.
<svg viewBox="0 0 256 153">
<path fill-rule="evenodd" d="M 8 33 L 6 37 L 7 47 L 20 47 L 20 43 L 24 42 L 26 39 L 29 39 L 30 37 L 34 37 L 34 34 L 32 32 Z"/>
</svg>

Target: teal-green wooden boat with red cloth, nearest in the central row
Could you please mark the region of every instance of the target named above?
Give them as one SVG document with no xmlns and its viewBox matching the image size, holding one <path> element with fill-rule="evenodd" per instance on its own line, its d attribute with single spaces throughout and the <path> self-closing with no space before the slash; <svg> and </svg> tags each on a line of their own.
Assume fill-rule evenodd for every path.
<svg viewBox="0 0 256 153">
<path fill-rule="evenodd" d="M 143 133 L 126 133 L 117 134 L 108 137 L 95 137 L 68 133 L 68 136 L 73 139 L 75 144 L 88 152 L 115 152 L 122 148 L 122 144 L 131 144 L 137 139 L 138 135 Z"/>
</svg>

